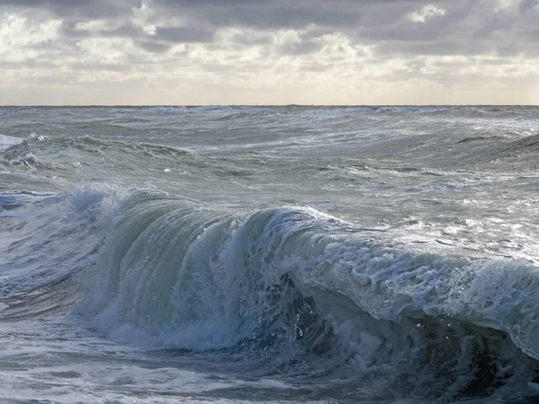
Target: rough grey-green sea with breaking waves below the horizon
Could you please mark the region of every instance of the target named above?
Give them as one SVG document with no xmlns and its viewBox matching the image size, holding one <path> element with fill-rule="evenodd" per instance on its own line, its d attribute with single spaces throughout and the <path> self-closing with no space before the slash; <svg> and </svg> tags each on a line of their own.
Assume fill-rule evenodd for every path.
<svg viewBox="0 0 539 404">
<path fill-rule="evenodd" d="M 0 108 L 0 402 L 539 402 L 539 108 Z"/>
</svg>

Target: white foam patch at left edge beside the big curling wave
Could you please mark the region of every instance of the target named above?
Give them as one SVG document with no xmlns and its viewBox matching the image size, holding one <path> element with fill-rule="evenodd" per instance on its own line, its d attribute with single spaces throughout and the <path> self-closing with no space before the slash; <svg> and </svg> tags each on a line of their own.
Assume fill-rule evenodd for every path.
<svg viewBox="0 0 539 404">
<path fill-rule="evenodd" d="M 116 200 L 100 189 L 2 197 L 16 207 L 0 209 L 0 220 L 17 225 L 0 233 L 0 295 L 32 289 L 88 265 L 89 253 L 110 228 Z"/>
</svg>

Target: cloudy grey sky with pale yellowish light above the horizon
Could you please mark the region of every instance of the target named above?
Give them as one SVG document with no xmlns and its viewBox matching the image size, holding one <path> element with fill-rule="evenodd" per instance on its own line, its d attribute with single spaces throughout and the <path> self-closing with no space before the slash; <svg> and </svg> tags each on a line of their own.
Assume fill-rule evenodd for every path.
<svg viewBox="0 0 539 404">
<path fill-rule="evenodd" d="M 0 104 L 539 104 L 539 0 L 0 0 Z"/>
</svg>

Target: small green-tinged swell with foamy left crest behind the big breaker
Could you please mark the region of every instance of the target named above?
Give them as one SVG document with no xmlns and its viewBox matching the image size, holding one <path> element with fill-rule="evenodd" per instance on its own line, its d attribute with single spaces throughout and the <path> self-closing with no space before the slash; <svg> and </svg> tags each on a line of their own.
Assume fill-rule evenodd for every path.
<svg viewBox="0 0 539 404">
<path fill-rule="evenodd" d="M 133 178 L 138 184 L 148 175 L 163 180 L 182 176 L 194 179 L 208 172 L 219 180 L 250 178 L 254 171 L 265 168 L 260 159 L 242 163 L 225 156 L 201 156 L 172 145 L 93 136 L 31 136 L 0 153 L 0 164 L 9 170 L 16 167 L 23 172 L 56 171 L 58 178 L 69 181 L 81 177 L 110 181 L 118 177 L 121 186 L 128 183 L 126 178 Z"/>
</svg>

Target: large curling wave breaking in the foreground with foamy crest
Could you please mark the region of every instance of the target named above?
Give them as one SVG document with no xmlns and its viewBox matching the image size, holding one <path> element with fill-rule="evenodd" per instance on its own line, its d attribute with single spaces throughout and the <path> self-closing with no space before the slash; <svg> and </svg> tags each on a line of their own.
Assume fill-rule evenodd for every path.
<svg viewBox="0 0 539 404">
<path fill-rule="evenodd" d="M 110 338 L 242 357 L 235 373 L 338 378 L 348 399 L 358 386 L 451 400 L 535 385 L 539 272 L 526 262 L 395 247 L 312 208 L 238 216 L 137 193 L 120 211 L 80 309 Z"/>
</svg>

